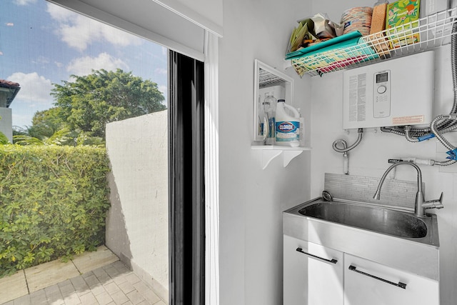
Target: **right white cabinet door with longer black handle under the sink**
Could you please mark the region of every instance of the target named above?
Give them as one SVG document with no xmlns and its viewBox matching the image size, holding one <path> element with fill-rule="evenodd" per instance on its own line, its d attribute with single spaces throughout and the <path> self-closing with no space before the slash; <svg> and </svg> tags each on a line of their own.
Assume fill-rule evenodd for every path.
<svg viewBox="0 0 457 305">
<path fill-rule="evenodd" d="M 438 281 L 344 254 L 345 305 L 438 305 Z"/>
</svg>

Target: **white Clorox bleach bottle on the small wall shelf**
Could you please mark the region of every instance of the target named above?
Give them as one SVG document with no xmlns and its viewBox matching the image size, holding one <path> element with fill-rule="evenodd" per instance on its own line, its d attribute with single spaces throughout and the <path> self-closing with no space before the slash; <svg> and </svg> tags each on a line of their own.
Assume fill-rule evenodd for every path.
<svg viewBox="0 0 457 305">
<path fill-rule="evenodd" d="M 293 116 L 286 114 L 289 109 Z M 276 145 L 299 146 L 300 145 L 300 114 L 297 109 L 286 104 L 283 99 L 278 99 L 276 108 Z"/>
</svg>

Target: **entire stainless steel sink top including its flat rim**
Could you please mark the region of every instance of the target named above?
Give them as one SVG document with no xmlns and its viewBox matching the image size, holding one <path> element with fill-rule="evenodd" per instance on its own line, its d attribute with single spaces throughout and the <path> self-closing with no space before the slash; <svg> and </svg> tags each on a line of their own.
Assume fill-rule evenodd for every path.
<svg viewBox="0 0 457 305">
<path fill-rule="evenodd" d="M 284 214 L 439 246 L 438 221 L 434 214 L 418 217 L 412 212 L 394 208 L 343 199 L 326 201 L 321 197 L 294 206 L 284 211 Z M 287 226 L 289 225 L 287 224 Z"/>
</svg>

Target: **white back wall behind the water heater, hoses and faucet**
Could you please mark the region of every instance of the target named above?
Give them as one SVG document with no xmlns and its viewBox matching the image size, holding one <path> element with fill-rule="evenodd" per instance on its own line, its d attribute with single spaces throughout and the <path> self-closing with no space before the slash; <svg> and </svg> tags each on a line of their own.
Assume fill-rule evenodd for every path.
<svg viewBox="0 0 457 305">
<path fill-rule="evenodd" d="M 313 1 L 313 11 L 328 12 L 331 18 L 350 6 L 371 6 L 372 1 L 359 0 L 346 4 L 343 2 Z M 448 114 L 452 106 L 453 91 L 450 67 L 450 46 L 436 50 L 435 102 L 434 115 Z M 357 138 L 357 131 L 346 134 L 341 129 L 342 111 L 342 72 L 328 74 L 322 78 L 313 77 L 311 104 L 311 197 L 319 196 L 323 190 L 323 173 L 343 174 L 343 157 L 331 148 L 336 139 L 346 139 L 352 144 Z M 414 84 L 411 84 L 412 89 Z M 331 90 L 330 90 L 331 88 Z M 455 133 L 454 133 L 455 134 Z M 451 138 L 449 138 L 451 139 Z M 457 145 L 457 136 L 452 135 L 453 144 Z M 381 177 L 390 164 L 388 159 L 399 156 L 418 156 L 426 159 L 443 161 L 441 144 L 432 139 L 421 143 L 410 143 L 400 136 L 383 134 L 368 129 L 363 134 L 363 141 L 349 153 L 349 173 L 360 176 Z M 444 149 L 446 151 L 446 149 Z M 438 157 L 438 158 L 437 158 Z M 420 166 L 423 181 L 426 184 L 426 200 L 437 199 L 444 192 L 444 209 L 431 211 L 438 215 L 440 234 L 440 289 L 441 304 L 456 304 L 457 291 L 457 165 L 449 168 Z M 409 166 L 396 168 L 396 178 L 416 181 L 416 171 Z M 453 171 L 445 173 L 441 171 Z M 373 190 L 373 194 L 374 194 Z M 381 195 L 382 196 L 382 195 Z M 395 249 L 392 249 L 395 251 Z M 426 291 L 424 291 L 426 294 Z"/>
</svg>

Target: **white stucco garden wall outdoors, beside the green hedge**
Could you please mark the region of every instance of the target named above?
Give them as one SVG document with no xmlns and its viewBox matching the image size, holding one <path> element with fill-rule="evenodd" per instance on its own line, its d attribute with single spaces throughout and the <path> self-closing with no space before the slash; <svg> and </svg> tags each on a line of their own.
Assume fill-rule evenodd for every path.
<svg viewBox="0 0 457 305">
<path fill-rule="evenodd" d="M 169 290 L 167 111 L 106 125 L 106 246 L 163 299 Z"/>
</svg>

